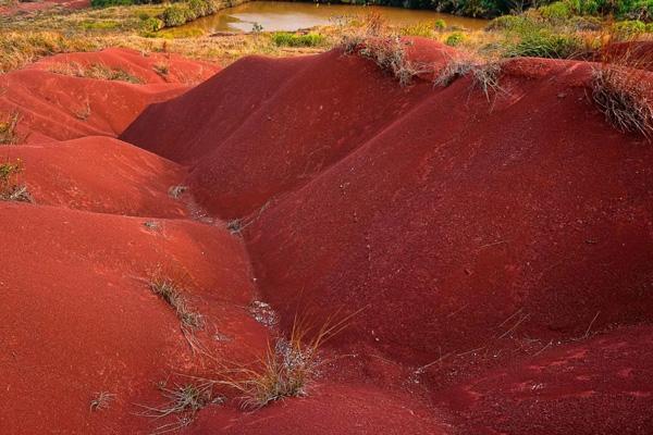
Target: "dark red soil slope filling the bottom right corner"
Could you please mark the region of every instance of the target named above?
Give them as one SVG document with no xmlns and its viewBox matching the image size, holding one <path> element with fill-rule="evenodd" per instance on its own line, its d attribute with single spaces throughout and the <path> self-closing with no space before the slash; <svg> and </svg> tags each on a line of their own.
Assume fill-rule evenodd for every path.
<svg viewBox="0 0 653 435">
<path fill-rule="evenodd" d="M 571 343 L 438 394 L 463 433 L 650 434 L 653 328 Z"/>
</svg>

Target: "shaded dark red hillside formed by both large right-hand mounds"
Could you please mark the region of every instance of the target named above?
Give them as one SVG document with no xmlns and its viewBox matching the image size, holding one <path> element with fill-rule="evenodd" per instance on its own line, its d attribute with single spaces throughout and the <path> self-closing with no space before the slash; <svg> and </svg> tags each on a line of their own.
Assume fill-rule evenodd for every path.
<svg viewBox="0 0 653 435">
<path fill-rule="evenodd" d="M 438 51 L 419 44 L 415 57 Z M 653 148 L 605 122 L 590 77 L 586 62 L 512 60 L 486 99 L 469 77 L 399 88 L 338 51 L 244 60 L 150 107 L 122 138 L 192 163 L 200 202 L 244 220 L 259 288 L 286 327 L 296 312 L 319 323 L 364 309 L 337 347 L 411 366 L 436 397 L 489 368 L 650 322 Z M 232 89 L 245 89 L 242 104 L 218 98 Z M 148 134 L 164 130 L 168 141 Z M 604 407 L 628 419 L 648 406 L 649 393 L 614 382 Z M 520 414 L 509 433 L 545 415 Z"/>
</svg>

